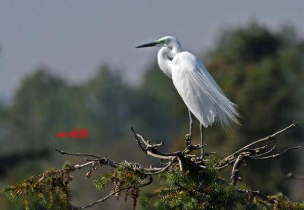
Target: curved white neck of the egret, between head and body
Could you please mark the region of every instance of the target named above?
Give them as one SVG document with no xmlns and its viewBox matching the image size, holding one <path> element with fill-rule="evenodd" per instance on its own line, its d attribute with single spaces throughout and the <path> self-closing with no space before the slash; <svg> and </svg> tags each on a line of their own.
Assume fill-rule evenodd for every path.
<svg viewBox="0 0 304 210">
<path fill-rule="evenodd" d="M 172 79 L 172 60 L 177 53 L 181 52 L 178 42 L 171 41 L 168 46 L 162 47 L 157 55 L 157 62 L 160 69 Z"/>
</svg>

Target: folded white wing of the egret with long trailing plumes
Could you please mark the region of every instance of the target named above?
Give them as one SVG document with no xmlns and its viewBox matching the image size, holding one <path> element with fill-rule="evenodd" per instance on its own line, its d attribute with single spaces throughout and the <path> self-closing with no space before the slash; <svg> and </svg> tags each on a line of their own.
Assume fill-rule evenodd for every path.
<svg viewBox="0 0 304 210">
<path fill-rule="evenodd" d="M 223 128 L 228 128 L 232 121 L 239 123 L 236 105 L 223 94 L 200 59 L 188 52 L 175 57 L 172 71 L 174 86 L 204 127 L 214 121 Z"/>
</svg>

